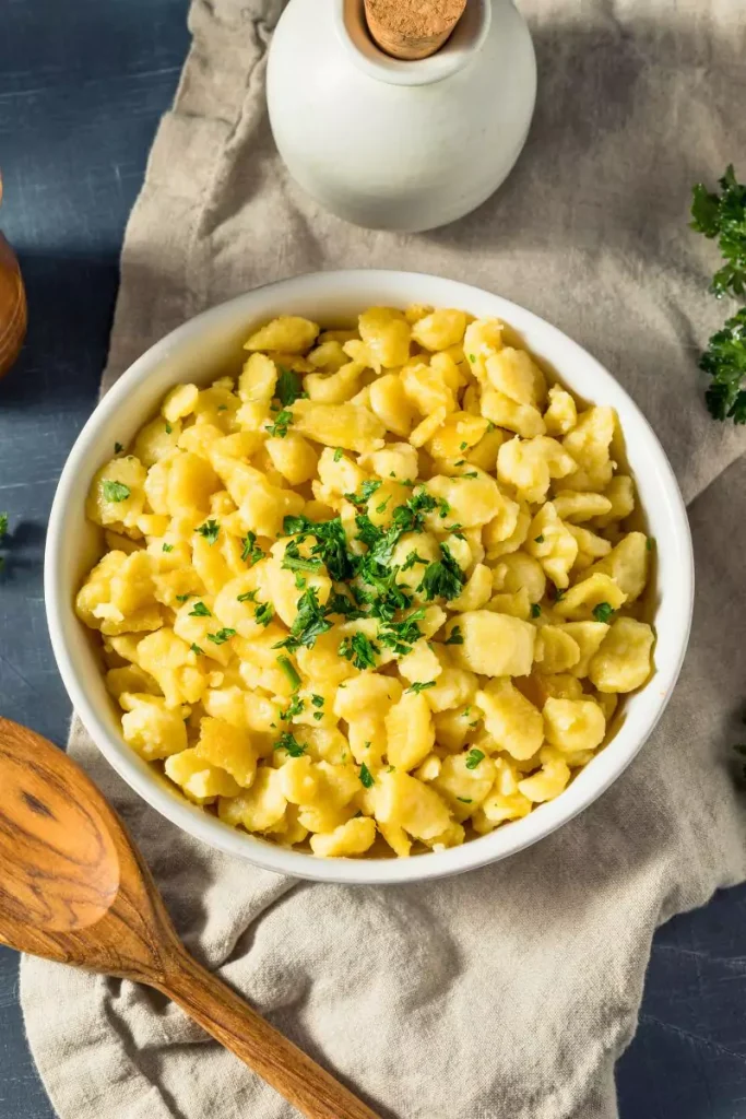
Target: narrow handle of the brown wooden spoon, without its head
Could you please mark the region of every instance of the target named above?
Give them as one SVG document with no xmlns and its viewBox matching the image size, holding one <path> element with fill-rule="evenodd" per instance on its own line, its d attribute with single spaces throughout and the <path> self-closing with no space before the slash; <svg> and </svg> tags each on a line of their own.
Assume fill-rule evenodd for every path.
<svg viewBox="0 0 746 1119">
<path fill-rule="evenodd" d="M 379 1119 L 187 952 L 169 957 L 154 986 L 308 1119 Z"/>
</svg>

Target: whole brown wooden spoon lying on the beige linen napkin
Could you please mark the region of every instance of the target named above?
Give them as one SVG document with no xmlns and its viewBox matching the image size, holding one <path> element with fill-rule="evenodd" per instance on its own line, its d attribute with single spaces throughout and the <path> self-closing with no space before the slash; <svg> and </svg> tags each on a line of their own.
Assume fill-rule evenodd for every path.
<svg viewBox="0 0 746 1119">
<path fill-rule="evenodd" d="M 309 1119 L 377 1119 L 188 955 L 95 784 L 6 718 L 0 789 L 0 941 L 162 991 Z"/>
</svg>

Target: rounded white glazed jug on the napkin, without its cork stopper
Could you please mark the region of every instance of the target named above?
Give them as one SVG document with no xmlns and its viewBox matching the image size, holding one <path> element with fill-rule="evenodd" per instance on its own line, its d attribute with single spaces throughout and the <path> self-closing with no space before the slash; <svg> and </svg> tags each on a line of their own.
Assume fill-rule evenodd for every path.
<svg viewBox="0 0 746 1119">
<path fill-rule="evenodd" d="M 374 229 L 432 229 L 489 198 L 535 100 L 533 46 L 510 0 L 468 0 L 445 46 L 418 62 L 378 49 L 362 0 L 290 0 L 270 48 L 270 121 L 290 173 Z"/>
</svg>

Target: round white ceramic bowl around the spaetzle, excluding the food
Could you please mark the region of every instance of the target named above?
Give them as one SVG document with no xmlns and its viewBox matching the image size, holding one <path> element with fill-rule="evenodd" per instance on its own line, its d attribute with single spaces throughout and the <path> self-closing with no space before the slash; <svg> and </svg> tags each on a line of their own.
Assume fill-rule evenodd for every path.
<svg viewBox="0 0 746 1119">
<path fill-rule="evenodd" d="M 414 301 L 504 319 L 570 388 L 616 410 L 649 530 L 658 542 L 655 674 L 626 699 L 622 726 L 610 744 L 556 800 L 523 819 L 461 847 L 408 859 L 315 858 L 237 831 L 188 803 L 122 740 L 119 714 L 104 688 L 91 634 L 73 610 L 74 595 L 101 548 L 98 532 L 85 519 L 85 497 L 114 443 L 129 443 L 173 384 L 207 383 L 239 368 L 242 342 L 255 323 L 278 313 L 339 322 L 366 307 L 405 307 Z M 646 420 L 611 374 L 530 311 L 466 284 L 409 272 L 318 272 L 283 280 L 206 311 L 153 346 L 128 369 L 81 432 L 55 495 L 45 557 L 47 618 L 63 680 L 94 742 L 117 773 L 169 820 L 213 847 L 270 871 L 324 882 L 413 882 L 468 871 L 528 847 L 586 808 L 629 765 L 670 698 L 687 647 L 692 592 L 691 538 L 673 472 Z"/>
</svg>

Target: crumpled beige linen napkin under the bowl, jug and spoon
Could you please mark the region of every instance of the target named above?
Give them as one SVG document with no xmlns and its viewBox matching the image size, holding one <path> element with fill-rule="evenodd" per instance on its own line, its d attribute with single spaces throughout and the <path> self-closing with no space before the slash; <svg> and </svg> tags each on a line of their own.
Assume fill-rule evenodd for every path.
<svg viewBox="0 0 746 1119">
<path fill-rule="evenodd" d="M 518 167 L 471 217 L 406 237 L 344 225 L 289 180 L 264 105 L 281 7 L 193 0 L 105 385 L 195 312 L 308 270 L 400 266 L 525 303 L 608 366 L 674 464 L 697 553 L 691 647 L 659 730 L 599 801 L 507 862 L 422 886 L 256 871 L 142 805 L 77 723 L 70 752 L 190 948 L 383 1116 L 611 1119 L 655 927 L 746 874 L 727 756 L 744 698 L 746 433 L 702 405 L 697 347 L 727 309 L 706 293 L 714 246 L 687 229 L 690 185 L 746 151 L 742 0 L 526 0 L 539 101 Z M 63 1119 L 293 1115 L 160 996 L 38 960 L 21 975 Z"/>
</svg>

